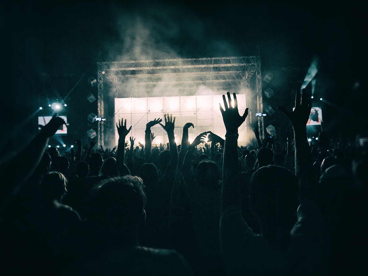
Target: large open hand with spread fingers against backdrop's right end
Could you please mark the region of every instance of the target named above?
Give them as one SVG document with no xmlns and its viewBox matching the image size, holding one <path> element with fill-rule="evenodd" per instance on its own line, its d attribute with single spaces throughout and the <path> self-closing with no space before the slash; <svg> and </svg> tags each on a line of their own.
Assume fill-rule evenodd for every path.
<svg viewBox="0 0 368 276">
<path fill-rule="evenodd" d="M 231 133 L 237 133 L 238 128 L 240 127 L 241 124 L 244 123 L 245 118 L 247 118 L 248 116 L 248 108 L 245 109 L 243 116 L 240 116 L 238 111 L 238 101 L 236 99 L 235 93 L 233 93 L 233 97 L 234 97 L 234 107 L 232 105 L 233 101 L 231 100 L 230 92 L 227 92 L 227 98 L 229 103 L 226 102 L 225 95 L 222 95 L 225 109 L 222 108 L 221 103 L 219 103 L 219 106 L 226 131 Z"/>
</svg>

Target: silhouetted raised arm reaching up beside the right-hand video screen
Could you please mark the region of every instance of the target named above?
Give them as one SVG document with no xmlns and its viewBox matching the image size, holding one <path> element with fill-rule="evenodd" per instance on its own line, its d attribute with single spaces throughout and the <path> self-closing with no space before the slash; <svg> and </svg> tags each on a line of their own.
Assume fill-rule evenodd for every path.
<svg viewBox="0 0 368 276">
<path fill-rule="evenodd" d="M 307 122 L 311 107 L 311 98 L 305 89 L 296 93 L 293 112 L 287 111 L 282 106 L 278 107 L 290 120 L 294 129 L 295 174 L 299 178 L 300 200 L 311 197 L 313 189 L 312 154 L 307 138 Z"/>
</svg>

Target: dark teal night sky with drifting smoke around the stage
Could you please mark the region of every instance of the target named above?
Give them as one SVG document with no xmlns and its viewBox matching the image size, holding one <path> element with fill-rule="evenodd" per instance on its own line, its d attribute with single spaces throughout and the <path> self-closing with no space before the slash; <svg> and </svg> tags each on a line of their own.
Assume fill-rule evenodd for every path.
<svg viewBox="0 0 368 276">
<path fill-rule="evenodd" d="M 86 138 L 85 131 L 90 128 L 86 116 L 97 112 L 96 102 L 86 100 L 88 93 L 97 95 L 86 79 L 96 77 L 96 62 L 117 60 L 259 55 L 262 76 L 274 75 L 268 85 L 278 96 L 275 101 L 289 106 L 293 103 L 290 89 L 300 87 L 317 57 L 315 93 L 332 103 L 325 107 L 326 126 L 331 131 L 336 127 L 340 131 L 365 129 L 366 115 L 349 115 L 363 113 L 366 102 L 367 24 L 360 5 L 118 3 L 33 1 L 4 5 L 1 18 L 5 28 L 1 31 L 6 119 L 0 148 L 9 141 L 8 148 L 24 146 L 38 131 L 33 126 L 35 117 L 29 116 L 48 100 L 64 99 L 70 91 L 66 99 L 68 112 L 72 112 L 68 114 L 70 135 L 64 139 Z M 354 90 L 356 81 L 360 87 Z"/>
</svg>

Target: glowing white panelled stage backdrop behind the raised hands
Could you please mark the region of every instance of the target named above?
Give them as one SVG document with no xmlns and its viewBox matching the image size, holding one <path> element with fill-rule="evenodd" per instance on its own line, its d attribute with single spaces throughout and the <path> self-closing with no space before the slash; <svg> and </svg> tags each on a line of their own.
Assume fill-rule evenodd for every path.
<svg viewBox="0 0 368 276">
<path fill-rule="evenodd" d="M 232 96 L 231 96 L 232 97 Z M 242 115 L 246 108 L 245 94 L 237 94 L 238 109 Z M 119 135 L 116 123 L 119 120 L 127 120 L 127 127 L 132 126 L 131 131 L 125 138 L 129 144 L 129 137 L 135 139 L 134 145 L 138 146 L 138 141 L 144 142 L 146 123 L 155 118 L 162 118 L 164 125 L 164 114 L 172 114 L 175 117 L 174 135 L 177 145 L 181 144 L 183 136 L 183 126 L 186 123 L 194 124 L 194 128 L 189 128 L 189 141 L 204 131 L 212 131 L 223 139 L 225 138 L 225 126 L 222 120 L 219 103 L 223 106 L 222 95 L 195 95 L 195 96 L 171 96 L 171 97 L 146 97 L 146 98 L 115 98 L 115 143 L 118 144 Z M 123 121 L 123 122 L 124 122 Z M 157 124 L 151 128 L 156 136 L 152 141 L 152 146 L 159 146 L 169 142 L 166 131 Z M 246 146 L 247 120 L 239 128 L 238 146 Z M 204 146 L 200 144 L 199 146 Z"/>
</svg>

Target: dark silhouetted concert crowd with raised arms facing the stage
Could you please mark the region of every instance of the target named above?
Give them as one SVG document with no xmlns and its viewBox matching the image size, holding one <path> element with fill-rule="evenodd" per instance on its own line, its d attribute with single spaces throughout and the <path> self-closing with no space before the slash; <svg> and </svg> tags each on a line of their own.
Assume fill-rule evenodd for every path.
<svg viewBox="0 0 368 276">
<path fill-rule="evenodd" d="M 1 163 L 1 275 L 356 275 L 367 238 L 367 152 L 321 131 L 308 143 L 308 91 L 287 140 L 253 127 L 238 146 L 236 93 L 219 106 L 225 137 L 208 130 L 179 145 L 175 117 L 146 123 L 145 144 L 122 118 L 118 145 L 47 148 L 66 124 L 53 116 L 20 152 Z M 169 142 L 153 143 L 161 125 Z M 130 143 L 128 143 L 130 141 Z M 155 146 L 154 146 L 155 145 Z"/>
</svg>

